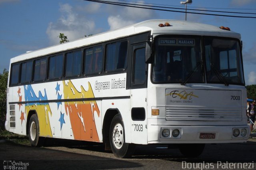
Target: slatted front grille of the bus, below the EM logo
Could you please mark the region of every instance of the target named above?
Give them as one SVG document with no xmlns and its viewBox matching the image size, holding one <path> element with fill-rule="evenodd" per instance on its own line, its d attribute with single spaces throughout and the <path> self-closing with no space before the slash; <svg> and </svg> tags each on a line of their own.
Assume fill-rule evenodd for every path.
<svg viewBox="0 0 256 170">
<path fill-rule="evenodd" d="M 224 107 L 177 107 L 166 106 L 166 120 L 184 121 L 241 121 L 241 108 Z"/>
</svg>

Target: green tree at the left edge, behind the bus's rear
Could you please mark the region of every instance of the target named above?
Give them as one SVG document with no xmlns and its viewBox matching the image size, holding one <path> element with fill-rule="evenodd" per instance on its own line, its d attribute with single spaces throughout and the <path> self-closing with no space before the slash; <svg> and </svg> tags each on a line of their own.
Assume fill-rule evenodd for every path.
<svg viewBox="0 0 256 170">
<path fill-rule="evenodd" d="M 8 71 L 4 69 L 3 74 L 0 74 L 0 125 L 4 126 L 6 119 L 6 88 L 8 80 Z"/>
</svg>

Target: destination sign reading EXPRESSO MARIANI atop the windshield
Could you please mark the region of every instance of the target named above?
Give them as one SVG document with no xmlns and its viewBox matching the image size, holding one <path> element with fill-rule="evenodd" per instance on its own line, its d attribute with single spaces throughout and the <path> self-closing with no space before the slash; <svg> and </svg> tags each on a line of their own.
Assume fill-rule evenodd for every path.
<svg viewBox="0 0 256 170">
<path fill-rule="evenodd" d="M 159 39 L 160 45 L 195 45 L 194 39 Z"/>
</svg>

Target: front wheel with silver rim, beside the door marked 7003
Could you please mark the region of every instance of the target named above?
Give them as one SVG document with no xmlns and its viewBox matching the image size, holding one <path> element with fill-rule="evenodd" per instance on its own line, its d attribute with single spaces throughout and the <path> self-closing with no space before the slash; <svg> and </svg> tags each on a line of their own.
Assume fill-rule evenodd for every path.
<svg viewBox="0 0 256 170">
<path fill-rule="evenodd" d="M 113 154 L 118 158 L 129 158 L 134 152 L 135 145 L 125 143 L 124 125 L 120 115 L 115 115 L 110 125 L 110 147 Z"/>
</svg>

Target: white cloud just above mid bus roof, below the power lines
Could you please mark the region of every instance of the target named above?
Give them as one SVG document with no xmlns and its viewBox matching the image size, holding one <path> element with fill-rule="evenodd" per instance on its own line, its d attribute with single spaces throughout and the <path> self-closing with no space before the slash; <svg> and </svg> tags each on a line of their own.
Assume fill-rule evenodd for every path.
<svg viewBox="0 0 256 170">
<path fill-rule="evenodd" d="M 118 13 L 119 15 L 111 15 L 108 17 L 108 25 L 110 26 L 110 30 L 115 30 L 117 28 L 128 26 L 143 20 L 155 19 L 157 16 L 154 10 L 133 7 L 119 7 L 115 9 L 115 13 Z"/>
</svg>

